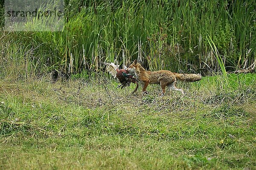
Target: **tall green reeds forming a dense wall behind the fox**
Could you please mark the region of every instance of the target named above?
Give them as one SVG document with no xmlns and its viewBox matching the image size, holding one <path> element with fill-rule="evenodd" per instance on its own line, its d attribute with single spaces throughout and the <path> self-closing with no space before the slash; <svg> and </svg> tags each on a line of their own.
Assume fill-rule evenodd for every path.
<svg viewBox="0 0 256 170">
<path fill-rule="evenodd" d="M 66 15 L 61 32 L 6 35 L 1 31 L 1 35 L 12 39 L 10 46 L 22 43 L 28 49 L 35 48 L 33 56 L 48 71 L 94 71 L 101 69 L 101 61 L 128 65 L 140 59 L 149 69 L 215 72 L 219 70 L 218 61 L 207 36 L 213 40 L 227 71 L 255 70 L 256 12 L 250 0 L 70 0 L 66 2 Z M 160 29 L 166 39 L 152 44 L 148 38 Z M 163 44 L 179 44 L 184 53 L 172 56 Z"/>
</svg>

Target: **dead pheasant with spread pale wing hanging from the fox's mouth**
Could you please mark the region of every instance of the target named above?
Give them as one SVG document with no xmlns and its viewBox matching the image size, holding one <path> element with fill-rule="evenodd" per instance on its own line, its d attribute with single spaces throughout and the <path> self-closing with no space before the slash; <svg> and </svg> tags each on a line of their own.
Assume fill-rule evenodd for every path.
<svg viewBox="0 0 256 170">
<path fill-rule="evenodd" d="M 137 78 L 134 78 L 133 74 L 135 74 L 135 69 L 127 68 L 124 64 L 122 64 L 123 69 L 119 69 L 119 65 L 115 65 L 113 62 L 105 63 L 107 65 L 106 70 L 114 77 L 118 78 L 121 84 L 119 84 L 116 88 L 124 88 L 125 86 L 130 86 L 130 83 L 136 84 L 136 88 L 133 93 L 137 91 L 139 84 Z"/>
</svg>

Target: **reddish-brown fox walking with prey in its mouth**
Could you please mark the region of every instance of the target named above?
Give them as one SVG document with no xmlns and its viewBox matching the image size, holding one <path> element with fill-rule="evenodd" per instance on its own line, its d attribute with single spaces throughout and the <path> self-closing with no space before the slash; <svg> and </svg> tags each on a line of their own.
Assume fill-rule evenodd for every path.
<svg viewBox="0 0 256 170">
<path fill-rule="evenodd" d="M 142 86 L 142 94 L 147 93 L 146 89 L 148 84 L 160 84 L 162 88 L 160 95 L 165 93 L 166 86 L 168 86 L 168 88 L 171 90 L 180 91 L 182 95 L 184 95 L 183 89 L 178 89 L 176 87 L 177 79 L 180 81 L 194 82 L 199 81 L 202 78 L 201 75 L 179 74 L 170 72 L 168 70 L 160 70 L 154 72 L 146 71 L 140 65 L 140 63 L 137 63 L 137 60 L 134 60 L 134 62 L 128 68 L 135 69 L 135 76 L 140 81 Z"/>
</svg>

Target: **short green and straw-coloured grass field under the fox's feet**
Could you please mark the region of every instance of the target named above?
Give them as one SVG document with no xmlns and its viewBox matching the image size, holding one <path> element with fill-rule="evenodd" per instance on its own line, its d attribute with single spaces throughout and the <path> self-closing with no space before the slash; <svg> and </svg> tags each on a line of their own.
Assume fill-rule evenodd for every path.
<svg viewBox="0 0 256 170">
<path fill-rule="evenodd" d="M 96 74 L 0 81 L 0 169 L 256 168 L 256 76 L 179 83 L 186 95 Z M 139 89 L 141 90 L 141 89 Z M 140 94 L 140 92 L 139 92 Z"/>
</svg>

